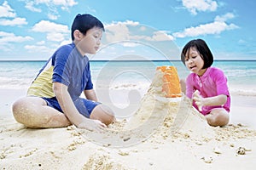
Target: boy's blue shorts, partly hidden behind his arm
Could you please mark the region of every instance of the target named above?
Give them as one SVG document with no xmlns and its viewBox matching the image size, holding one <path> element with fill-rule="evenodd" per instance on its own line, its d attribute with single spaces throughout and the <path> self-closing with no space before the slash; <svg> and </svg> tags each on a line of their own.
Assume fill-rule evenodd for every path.
<svg viewBox="0 0 256 170">
<path fill-rule="evenodd" d="M 63 111 L 61 110 L 61 106 L 59 105 L 57 99 L 55 97 L 53 98 L 44 98 L 42 97 L 47 102 L 47 105 L 50 107 L 54 108 L 57 111 Z M 84 98 L 78 98 L 73 101 L 74 105 L 76 106 L 77 110 L 79 113 L 87 118 L 90 118 L 90 113 L 91 111 L 97 106 L 100 105 L 101 103 L 92 101 L 90 99 L 84 99 Z"/>
</svg>

